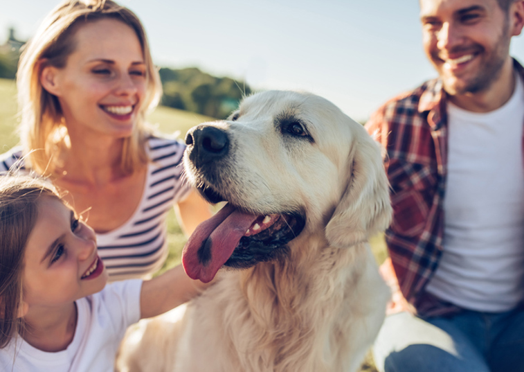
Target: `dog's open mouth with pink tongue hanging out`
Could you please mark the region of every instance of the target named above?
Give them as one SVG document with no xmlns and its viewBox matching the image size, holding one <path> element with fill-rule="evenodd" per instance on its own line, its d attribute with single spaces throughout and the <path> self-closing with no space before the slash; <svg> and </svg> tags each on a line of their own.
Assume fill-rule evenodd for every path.
<svg viewBox="0 0 524 372">
<path fill-rule="evenodd" d="M 183 267 L 190 278 L 208 283 L 222 265 L 243 268 L 272 260 L 304 226 L 297 213 L 256 215 L 226 204 L 192 233 L 183 248 Z"/>
</svg>

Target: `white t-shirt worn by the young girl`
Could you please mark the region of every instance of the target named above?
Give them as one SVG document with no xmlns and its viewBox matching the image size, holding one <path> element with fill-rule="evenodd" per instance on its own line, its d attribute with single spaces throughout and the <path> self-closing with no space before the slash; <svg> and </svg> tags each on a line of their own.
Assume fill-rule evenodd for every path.
<svg viewBox="0 0 524 372">
<path fill-rule="evenodd" d="M 0 371 L 113 372 L 127 326 L 140 319 L 141 287 L 140 279 L 120 281 L 79 299 L 75 335 L 66 350 L 47 353 L 17 337 L 0 349 Z"/>
</svg>

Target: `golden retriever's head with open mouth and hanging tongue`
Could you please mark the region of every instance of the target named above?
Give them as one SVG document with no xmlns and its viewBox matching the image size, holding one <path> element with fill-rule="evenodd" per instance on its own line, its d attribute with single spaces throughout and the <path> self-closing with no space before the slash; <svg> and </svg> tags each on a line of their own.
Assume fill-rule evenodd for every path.
<svg viewBox="0 0 524 372">
<path fill-rule="evenodd" d="M 228 202 L 184 248 L 193 278 L 271 260 L 303 229 L 348 247 L 389 223 L 379 146 L 324 98 L 255 94 L 228 120 L 193 127 L 186 144 L 190 182 L 209 202 Z"/>
</svg>

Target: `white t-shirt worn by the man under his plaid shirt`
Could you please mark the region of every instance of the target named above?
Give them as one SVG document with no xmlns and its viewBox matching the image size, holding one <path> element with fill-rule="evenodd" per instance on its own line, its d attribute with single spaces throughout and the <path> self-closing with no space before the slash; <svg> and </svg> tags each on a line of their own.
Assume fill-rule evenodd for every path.
<svg viewBox="0 0 524 372">
<path fill-rule="evenodd" d="M 524 89 L 487 113 L 448 105 L 444 251 L 426 290 L 503 312 L 524 299 Z"/>
</svg>

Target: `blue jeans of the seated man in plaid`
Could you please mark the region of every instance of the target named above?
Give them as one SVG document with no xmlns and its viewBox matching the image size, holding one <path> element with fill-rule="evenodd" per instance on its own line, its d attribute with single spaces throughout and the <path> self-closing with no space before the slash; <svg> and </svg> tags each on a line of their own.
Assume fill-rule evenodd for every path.
<svg viewBox="0 0 524 372">
<path fill-rule="evenodd" d="M 524 372 L 524 310 L 390 315 L 373 356 L 381 372 Z"/>
</svg>

